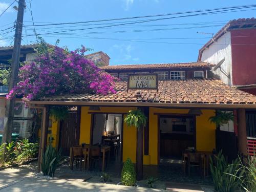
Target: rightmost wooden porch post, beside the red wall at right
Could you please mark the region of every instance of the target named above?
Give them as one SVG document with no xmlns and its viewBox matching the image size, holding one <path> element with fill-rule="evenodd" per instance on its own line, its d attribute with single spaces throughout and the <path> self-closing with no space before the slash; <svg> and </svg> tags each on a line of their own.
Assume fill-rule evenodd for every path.
<svg viewBox="0 0 256 192">
<path fill-rule="evenodd" d="M 245 109 L 239 109 L 237 112 L 238 121 L 238 151 L 247 156 L 247 134 Z"/>
</svg>

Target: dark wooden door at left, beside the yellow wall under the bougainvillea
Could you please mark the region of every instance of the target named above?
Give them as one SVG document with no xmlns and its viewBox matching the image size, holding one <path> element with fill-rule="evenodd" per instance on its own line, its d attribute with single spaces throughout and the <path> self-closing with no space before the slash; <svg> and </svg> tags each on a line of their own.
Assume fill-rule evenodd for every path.
<svg viewBox="0 0 256 192">
<path fill-rule="evenodd" d="M 80 121 L 78 113 L 72 111 L 68 118 L 60 122 L 59 146 L 62 149 L 62 155 L 69 156 L 70 147 L 79 144 Z"/>
</svg>

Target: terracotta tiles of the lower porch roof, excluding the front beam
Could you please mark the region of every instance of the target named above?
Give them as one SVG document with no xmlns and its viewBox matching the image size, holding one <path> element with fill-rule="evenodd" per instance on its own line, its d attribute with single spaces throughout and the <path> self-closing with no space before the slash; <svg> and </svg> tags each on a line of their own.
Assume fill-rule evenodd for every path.
<svg viewBox="0 0 256 192">
<path fill-rule="evenodd" d="M 115 94 L 69 94 L 42 98 L 48 101 L 98 102 L 160 102 L 256 104 L 256 96 L 229 87 L 218 79 L 187 79 L 159 81 L 157 90 L 126 91 L 126 81 L 116 82 Z"/>
</svg>

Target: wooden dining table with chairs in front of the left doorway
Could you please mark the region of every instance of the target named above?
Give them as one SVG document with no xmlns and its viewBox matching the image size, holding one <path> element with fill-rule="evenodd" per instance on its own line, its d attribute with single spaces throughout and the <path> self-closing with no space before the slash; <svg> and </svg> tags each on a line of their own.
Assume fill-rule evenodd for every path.
<svg viewBox="0 0 256 192">
<path fill-rule="evenodd" d="M 89 169 L 89 165 L 90 165 L 90 149 L 92 147 L 99 147 L 99 146 L 94 146 L 94 145 L 84 145 L 83 147 L 83 152 L 84 152 L 84 160 L 86 160 L 87 162 L 87 170 Z M 100 147 L 100 151 L 102 153 L 102 172 L 104 172 L 104 168 L 105 168 L 105 153 L 106 152 L 110 152 L 110 146 L 101 146 Z M 110 153 L 108 155 L 108 161 L 110 160 Z M 86 165 L 86 163 L 84 163 L 84 165 Z M 84 167 L 86 168 L 86 167 Z"/>
</svg>

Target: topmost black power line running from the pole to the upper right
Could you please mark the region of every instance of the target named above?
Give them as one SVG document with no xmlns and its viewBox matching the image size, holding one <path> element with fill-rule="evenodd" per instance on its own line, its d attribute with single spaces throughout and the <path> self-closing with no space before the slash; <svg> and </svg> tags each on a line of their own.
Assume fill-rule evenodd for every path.
<svg viewBox="0 0 256 192">
<path fill-rule="evenodd" d="M 250 8 L 250 7 L 255 7 L 255 6 L 256 6 L 255 4 L 252 4 L 252 5 L 223 7 L 223 8 L 215 8 L 215 9 L 205 9 L 205 10 L 196 10 L 196 11 L 176 12 L 176 13 L 167 13 L 167 14 L 158 14 L 158 15 L 143 15 L 143 16 L 134 16 L 134 17 L 122 17 L 122 18 L 112 18 L 112 19 L 89 20 L 89 21 L 86 21 L 86 22 L 42 24 L 42 25 L 35 25 L 35 26 L 52 26 L 52 25 L 71 25 L 71 24 L 95 23 L 95 22 L 106 22 L 106 21 L 110 21 L 110 20 L 125 20 L 125 19 L 134 19 L 134 18 L 159 17 L 159 16 L 186 14 L 186 13 L 216 11 L 216 10 L 224 10 L 225 11 L 225 9 L 243 9 L 243 8 Z M 32 25 L 27 25 L 26 27 L 32 27 Z"/>
</svg>

